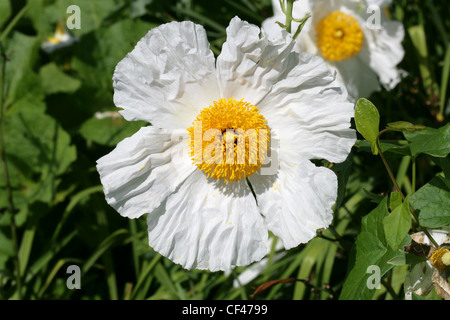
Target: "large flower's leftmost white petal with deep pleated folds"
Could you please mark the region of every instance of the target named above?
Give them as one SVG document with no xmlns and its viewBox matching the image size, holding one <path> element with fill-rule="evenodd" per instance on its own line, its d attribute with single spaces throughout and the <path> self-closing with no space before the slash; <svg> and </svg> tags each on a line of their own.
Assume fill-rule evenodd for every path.
<svg viewBox="0 0 450 320">
<path fill-rule="evenodd" d="M 156 209 L 196 169 L 180 137 L 143 127 L 97 160 L 108 204 L 129 218 Z"/>
</svg>

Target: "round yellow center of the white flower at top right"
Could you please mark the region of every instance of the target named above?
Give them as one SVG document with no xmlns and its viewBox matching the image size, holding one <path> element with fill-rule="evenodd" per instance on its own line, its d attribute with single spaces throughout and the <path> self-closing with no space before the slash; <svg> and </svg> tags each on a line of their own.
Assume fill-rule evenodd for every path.
<svg viewBox="0 0 450 320">
<path fill-rule="evenodd" d="M 361 51 L 363 31 L 354 17 L 334 11 L 316 25 L 317 46 L 325 59 L 341 61 Z"/>
</svg>

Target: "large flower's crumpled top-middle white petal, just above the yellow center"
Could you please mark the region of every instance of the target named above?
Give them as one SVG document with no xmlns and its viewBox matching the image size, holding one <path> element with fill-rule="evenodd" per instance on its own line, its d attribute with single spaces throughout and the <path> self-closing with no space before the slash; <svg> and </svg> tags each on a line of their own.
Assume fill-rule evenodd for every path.
<svg viewBox="0 0 450 320">
<path fill-rule="evenodd" d="M 244 99 L 259 107 L 272 86 L 283 78 L 280 70 L 294 67 L 286 65 L 289 62 L 286 56 L 294 47 L 289 39 L 287 32 L 282 32 L 279 39 L 269 41 L 257 26 L 233 18 L 227 28 L 227 41 L 217 58 L 222 96 Z"/>
</svg>

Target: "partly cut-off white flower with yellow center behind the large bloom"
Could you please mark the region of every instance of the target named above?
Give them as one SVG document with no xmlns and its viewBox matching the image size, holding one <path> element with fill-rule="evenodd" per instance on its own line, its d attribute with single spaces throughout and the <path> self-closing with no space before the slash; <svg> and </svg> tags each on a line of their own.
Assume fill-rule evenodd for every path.
<svg viewBox="0 0 450 320">
<path fill-rule="evenodd" d="M 263 22 L 263 28 L 276 35 L 284 23 L 278 0 L 272 0 L 274 16 Z M 401 80 L 404 28 L 387 18 L 387 0 L 299 0 L 294 2 L 294 18 L 311 13 L 296 39 L 298 50 L 322 56 L 331 70 L 347 87 L 352 100 L 387 90 Z M 293 22 L 292 32 L 298 23 Z"/>
</svg>

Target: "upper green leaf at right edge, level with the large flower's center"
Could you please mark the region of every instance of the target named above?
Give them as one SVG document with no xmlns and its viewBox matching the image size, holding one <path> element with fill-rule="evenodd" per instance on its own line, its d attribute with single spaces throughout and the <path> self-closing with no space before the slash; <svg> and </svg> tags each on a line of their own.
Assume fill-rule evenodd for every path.
<svg viewBox="0 0 450 320">
<path fill-rule="evenodd" d="M 450 123 L 434 129 L 426 128 L 416 132 L 404 132 L 405 138 L 411 143 L 411 155 L 426 153 L 434 157 L 446 157 L 450 152 Z"/>
</svg>

